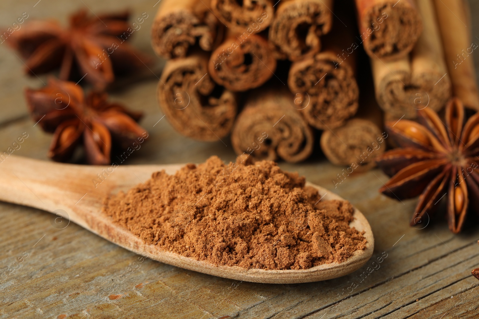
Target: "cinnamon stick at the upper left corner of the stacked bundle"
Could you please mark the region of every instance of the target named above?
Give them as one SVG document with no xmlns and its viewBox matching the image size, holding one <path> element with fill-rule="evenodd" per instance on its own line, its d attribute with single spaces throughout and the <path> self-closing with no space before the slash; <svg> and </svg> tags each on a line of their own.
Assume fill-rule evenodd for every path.
<svg viewBox="0 0 479 319">
<path fill-rule="evenodd" d="M 217 18 L 209 1 L 163 0 L 151 27 L 151 46 L 166 59 L 184 57 L 196 43 L 205 51 L 213 49 Z"/>
</svg>

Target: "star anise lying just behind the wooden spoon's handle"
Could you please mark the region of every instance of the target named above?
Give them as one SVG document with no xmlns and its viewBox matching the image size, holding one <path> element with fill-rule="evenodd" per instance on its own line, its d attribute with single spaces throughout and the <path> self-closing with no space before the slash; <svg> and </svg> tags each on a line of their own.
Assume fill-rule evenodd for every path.
<svg viewBox="0 0 479 319">
<path fill-rule="evenodd" d="M 54 133 L 48 151 L 54 161 L 67 161 L 83 143 L 89 164 L 110 164 L 112 145 L 133 149 L 135 142 L 148 137 L 136 122 L 142 114 L 108 102 L 104 92 L 93 91 L 85 97 L 75 83 L 51 78 L 45 88 L 27 88 L 25 96 L 33 120 Z"/>
</svg>

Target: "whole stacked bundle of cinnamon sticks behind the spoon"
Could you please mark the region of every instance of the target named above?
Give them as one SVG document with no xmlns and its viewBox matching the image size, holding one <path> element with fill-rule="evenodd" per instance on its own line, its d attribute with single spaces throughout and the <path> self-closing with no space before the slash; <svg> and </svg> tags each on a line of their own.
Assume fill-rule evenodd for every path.
<svg viewBox="0 0 479 319">
<path fill-rule="evenodd" d="M 462 0 L 336 2 L 163 0 L 152 46 L 169 59 L 158 99 L 175 130 L 231 134 L 253 160 L 303 161 L 320 145 L 332 163 L 367 169 L 385 149 L 368 152 L 384 118 L 440 110 L 451 91 L 479 110 L 470 53 L 453 58 L 470 46 L 449 19 L 467 21 Z"/>
</svg>

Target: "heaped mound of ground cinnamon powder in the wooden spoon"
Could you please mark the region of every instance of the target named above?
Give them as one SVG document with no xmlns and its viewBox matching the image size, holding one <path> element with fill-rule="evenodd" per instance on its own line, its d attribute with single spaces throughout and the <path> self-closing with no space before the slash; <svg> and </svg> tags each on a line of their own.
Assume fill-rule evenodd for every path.
<svg viewBox="0 0 479 319">
<path fill-rule="evenodd" d="M 105 199 L 103 211 L 159 249 L 212 264 L 305 269 L 365 248 L 348 201 L 319 200 L 305 178 L 272 161 L 217 156 Z"/>
</svg>

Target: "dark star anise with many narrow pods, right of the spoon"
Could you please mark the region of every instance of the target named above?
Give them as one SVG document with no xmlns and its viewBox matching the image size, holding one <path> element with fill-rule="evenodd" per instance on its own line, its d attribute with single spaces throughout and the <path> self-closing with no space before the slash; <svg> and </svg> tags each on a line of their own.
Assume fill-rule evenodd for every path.
<svg viewBox="0 0 479 319">
<path fill-rule="evenodd" d="M 468 208 L 479 212 L 479 113 L 466 121 L 459 99 L 445 107 L 445 123 L 429 108 L 418 112 L 421 123 L 388 121 L 386 129 L 401 147 L 383 154 L 378 165 L 392 176 L 380 188 L 391 198 L 413 198 L 419 203 L 411 226 L 430 216 L 447 194 L 449 229 L 461 231 Z"/>
</svg>

